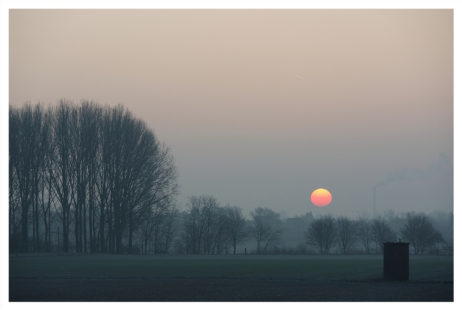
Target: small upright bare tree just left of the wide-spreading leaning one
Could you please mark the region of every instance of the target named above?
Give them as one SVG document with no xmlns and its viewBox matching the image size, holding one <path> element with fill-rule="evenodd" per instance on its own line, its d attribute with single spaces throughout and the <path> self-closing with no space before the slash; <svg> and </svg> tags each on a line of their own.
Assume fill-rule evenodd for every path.
<svg viewBox="0 0 462 310">
<path fill-rule="evenodd" d="M 231 244 L 234 249 L 233 254 L 236 254 L 236 246 L 243 244 L 249 240 L 249 231 L 246 227 L 246 218 L 242 213 L 242 209 L 237 206 L 225 206 L 226 212 L 226 231 L 231 239 Z"/>
</svg>

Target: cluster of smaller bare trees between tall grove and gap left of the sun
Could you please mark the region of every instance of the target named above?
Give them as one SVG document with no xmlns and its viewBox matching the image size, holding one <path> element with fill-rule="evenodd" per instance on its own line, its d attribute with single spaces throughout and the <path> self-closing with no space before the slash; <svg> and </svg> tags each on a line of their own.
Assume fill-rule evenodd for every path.
<svg viewBox="0 0 462 310">
<path fill-rule="evenodd" d="M 237 245 L 253 239 L 257 243 L 256 253 L 264 254 L 281 243 L 279 213 L 259 207 L 250 217 L 252 220 L 248 221 L 240 207 L 220 207 L 213 196 L 188 196 L 175 253 L 228 254 L 232 249 L 236 254 Z"/>
</svg>

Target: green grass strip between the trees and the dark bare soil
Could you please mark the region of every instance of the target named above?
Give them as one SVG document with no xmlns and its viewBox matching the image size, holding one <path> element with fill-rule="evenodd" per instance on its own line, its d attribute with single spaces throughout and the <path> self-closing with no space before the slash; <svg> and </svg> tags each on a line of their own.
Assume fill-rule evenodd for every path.
<svg viewBox="0 0 462 310">
<path fill-rule="evenodd" d="M 10 256 L 9 276 L 243 277 L 378 280 L 382 255 Z M 411 255 L 410 280 L 453 280 L 454 256 Z"/>
</svg>

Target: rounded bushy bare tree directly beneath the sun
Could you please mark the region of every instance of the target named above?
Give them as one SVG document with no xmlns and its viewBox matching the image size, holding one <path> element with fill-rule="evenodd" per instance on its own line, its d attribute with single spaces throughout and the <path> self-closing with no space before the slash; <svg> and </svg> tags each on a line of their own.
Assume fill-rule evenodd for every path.
<svg viewBox="0 0 462 310">
<path fill-rule="evenodd" d="M 334 215 L 328 213 L 320 219 L 314 219 L 303 234 L 308 245 L 317 249 L 320 254 L 329 254 L 337 234 Z"/>
</svg>

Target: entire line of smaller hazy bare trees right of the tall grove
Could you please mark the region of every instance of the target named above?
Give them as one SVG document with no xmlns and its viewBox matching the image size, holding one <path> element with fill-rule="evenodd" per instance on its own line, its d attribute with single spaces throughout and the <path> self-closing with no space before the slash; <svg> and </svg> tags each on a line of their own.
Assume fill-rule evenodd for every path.
<svg viewBox="0 0 462 310">
<path fill-rule="evenodd" d="M 280 214 L 269 208 L 256 208 L 247 220 L 239 207 L 220 207 L 209 195 L 189 196 L 183 212 L 180 238 L 175 253 L 236 254 L 236 246 L 252 242 L 255 254 L 365 254 L 383 253 L 383 242 L 409 242 L 413 254 L 438 254 L 445 244 L 443 234 L 425 213 L 406 213 L 403 227 L 394 231 L 390 219 L 334 216 L 331 213 L 312 219 L 304 230 L 304 243 L 287 246 L 282 242 L 284 227 Z M 311 216 L 311 219 L 310 219 Z M 453 217 L 450 213 L 449 217 Z"/>
</svg>

